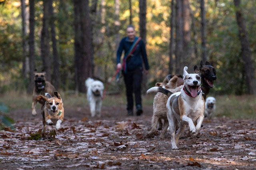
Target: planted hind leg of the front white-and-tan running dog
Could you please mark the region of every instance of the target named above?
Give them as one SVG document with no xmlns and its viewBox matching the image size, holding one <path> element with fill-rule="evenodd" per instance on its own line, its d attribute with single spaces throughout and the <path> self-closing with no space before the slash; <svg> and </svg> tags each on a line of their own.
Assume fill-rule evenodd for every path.
<svg viewBox="0 0 256 170">
<path fill-rule="evenodd" d="M 167 101 L 167 103 L 168 103 L 168 101 Z M 166 107 L 167 107 L 167 105 L 166 105 Z M 174 113 L 172 112 L 172 108 L 170 108 L 170 106 L 167 107 L 167 118 L 168 118 L 168 122 L 169 122 L 169 129 L 171 132 L 172 149 L 178 149 L 178 147 L 176 146 L 176 142 L 175 142 L 175 130 L 176 130 L 176 125 L 177 125 L 177 119 L 176 119 Z"/>
</svg>

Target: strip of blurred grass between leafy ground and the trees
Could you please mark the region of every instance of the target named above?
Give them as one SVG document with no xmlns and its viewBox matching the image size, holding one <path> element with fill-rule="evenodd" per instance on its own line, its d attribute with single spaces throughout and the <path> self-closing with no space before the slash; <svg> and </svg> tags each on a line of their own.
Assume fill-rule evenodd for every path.
<svg viewBox="0 0 256 170">
<path fill-rule="evenodd" d="M 88 105 L 86 94 L 70 93 L 60 91 L 64 101 L 64 107 L 82 107 Z M 236 119 L 256 119 L 256 96 L 253 95 L 222 95 L 214 96 L 216 98 L 215 117 L 230 117 Z M 154 94 L 142 95 L 142 105 L 152 106 Z M 15 91 L 2 94 L 0 102 L 4 103 L 10 111 L 16 109 L 30 109 L 32 105 L 32 95 L 18 93 Z M 117 95 L 106 95 L 103 100 L 104 106 L 126 106 L 125 93 Z M 40 105 L 36 105 L 40 109 Z"/>
</svg>

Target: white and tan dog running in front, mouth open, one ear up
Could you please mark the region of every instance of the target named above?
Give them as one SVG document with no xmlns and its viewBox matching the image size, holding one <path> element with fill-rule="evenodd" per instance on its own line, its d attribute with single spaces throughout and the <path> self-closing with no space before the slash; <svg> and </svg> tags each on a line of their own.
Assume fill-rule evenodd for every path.
<svg viewBox="0 0 256 170">
<path fill-rule="evenodd" d="M 167 96 L 172 94 L 168 98 L 166 108 L 173 149 L 178 148 L 176 144 L 178 143 L 180 134 L 184 132 L 186 125 L 194 133 L 192 137 L 195 137 L 204 120 L 205 105 L 200 87 L 201 79 L 198 74 L 188 74 L 187 69 L 188 67 L 184 67 L 183 69 L 184 87 L 180 92 L 172 94 L 170 91 L 161 87 L 152 87 L 147 91 L 147 93 L 161 92 Z M 177 123 L 179 123 L 179 129 L 175 134 Z"/>
</svg>

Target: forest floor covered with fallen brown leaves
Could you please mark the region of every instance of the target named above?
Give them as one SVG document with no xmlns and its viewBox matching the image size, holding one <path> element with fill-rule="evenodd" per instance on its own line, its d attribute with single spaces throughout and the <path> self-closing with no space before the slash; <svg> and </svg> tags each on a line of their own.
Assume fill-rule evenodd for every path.
<svg viewBox="0 0 256 170">
<path fill-rule="evenodd" d="M 255 169 L 255 120 L 214 117 L 200 134 L 186 131 L 172 150 L 170 133 L 146 138 L 152 106 L 127 117 L 126 107 L 103 106 L 102 117 L 91 118 L 88 106 L 65 107 L 62 128 L 48 126 L 46 138 L 30 140 L 42 129 L 40 110 L 16 109 L 10 115 L 16 130 L 0 131 L 1 169 Z M 51 132 L 50 132 L 51 131 Z"/>
</svg>

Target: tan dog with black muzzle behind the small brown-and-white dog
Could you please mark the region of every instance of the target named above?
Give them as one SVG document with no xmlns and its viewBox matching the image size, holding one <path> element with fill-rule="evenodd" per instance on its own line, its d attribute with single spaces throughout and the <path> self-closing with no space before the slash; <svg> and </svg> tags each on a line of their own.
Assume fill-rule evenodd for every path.
<svg viewBox="0 0 256 170">
<path fill-rule="evenodd" d="M 32 115 L 36 116 L 36 103 L 41 101 L 37 100 L 38 95 L 44 95 L 45 93 L 49 93 L 53 96 L 53 92 L 55 91 L 54 86 L 49 82 L 46 81 L 46 72 L 42 71 L 41 73 L 36 72 L 37 69 L 34 70 L 34 90 L 32 95 Z M 41 103 L 43 108 L 44 103 Z"/>
</svg>

